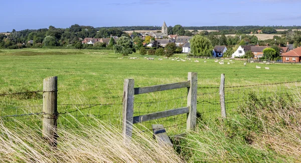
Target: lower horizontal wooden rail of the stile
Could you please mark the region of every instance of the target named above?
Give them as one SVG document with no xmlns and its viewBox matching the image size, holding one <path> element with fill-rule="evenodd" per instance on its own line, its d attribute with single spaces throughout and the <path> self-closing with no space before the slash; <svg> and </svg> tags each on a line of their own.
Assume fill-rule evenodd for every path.
<svg viewBox="0 0 301 163">
<path fill-rule="evenodd" d="M 134 116 L 133 123 L 141 123 L 142 121 L 145 122 L 149 120 L 165 118 L 165 117 L 185 114 L 185 113 L 189 113 L 189 107 L 182 107 L 178 109 L 166 110 L 166 111 L 156 112 L 152 114 Z"/>
</svg>

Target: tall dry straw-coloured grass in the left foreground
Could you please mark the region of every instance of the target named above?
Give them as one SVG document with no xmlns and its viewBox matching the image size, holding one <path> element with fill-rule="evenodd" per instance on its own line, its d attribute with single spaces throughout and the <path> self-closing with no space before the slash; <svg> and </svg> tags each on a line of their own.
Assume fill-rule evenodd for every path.
<svg viewBox="0 0 301 163">
<path fill-rule="evenodd" d="M 168 147 L 160 147 L 151 137 L 135 132 L 125 143 L 119 129 L 97 119 L 91 127 L 77 121 L 80 129 L 59 128 L 58 147 L 49 147 L 40 131 L 12 129 L 0 122 L 0 162 L 183 162 Z"/>
</svg>

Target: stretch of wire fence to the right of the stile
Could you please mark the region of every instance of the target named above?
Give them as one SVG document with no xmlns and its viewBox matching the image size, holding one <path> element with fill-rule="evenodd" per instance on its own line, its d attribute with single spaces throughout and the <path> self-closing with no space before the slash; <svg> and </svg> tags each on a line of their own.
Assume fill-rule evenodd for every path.
<svg viewBox="0 0 301 163">
<path fill-rule="evenodd" d="M 261 101 L 271 98 L 298 100 L 301 81 L 268 83 L 243 86 L 225 86 L 227 116 L 236 116 L 255 95 Z M 202 118 L 216 118 L 221 115 L 219 87 L 199 87 L 197 108 Z"/>
</svg>

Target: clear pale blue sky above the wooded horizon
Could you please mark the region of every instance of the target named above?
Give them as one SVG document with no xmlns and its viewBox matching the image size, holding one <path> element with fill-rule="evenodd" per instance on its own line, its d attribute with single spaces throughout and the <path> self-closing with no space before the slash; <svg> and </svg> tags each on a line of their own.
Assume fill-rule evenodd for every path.
<svg viewBox="0 0 301 163">
<path fill-rule="evenodd" d="M 0 32 L 73 24 L 111 26 L 301 25 L 301 0 L 0 0 Z"/>
</svg>

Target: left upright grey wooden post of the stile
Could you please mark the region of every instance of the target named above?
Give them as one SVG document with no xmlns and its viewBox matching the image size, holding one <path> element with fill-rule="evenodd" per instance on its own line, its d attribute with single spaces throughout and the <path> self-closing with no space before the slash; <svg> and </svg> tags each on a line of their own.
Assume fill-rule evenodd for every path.
<svg viewBox="0 0 301 163">
<path fill-rule="evenodd" d="M 122 134 L 126 140 L 132 136 L 133 112 L 134 112 L 134 80 L 125 79 L 123 85 L 123 115 Z"/>
</svg>

